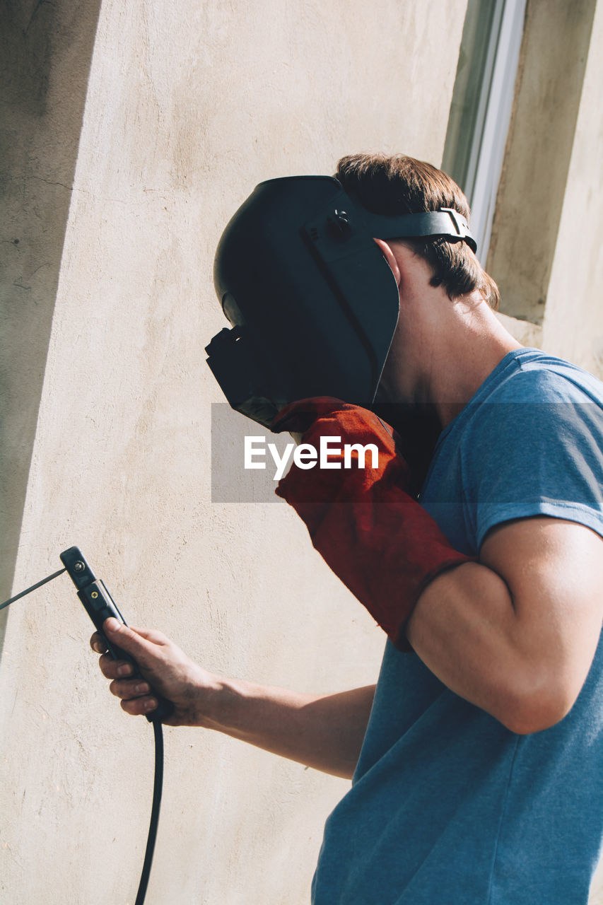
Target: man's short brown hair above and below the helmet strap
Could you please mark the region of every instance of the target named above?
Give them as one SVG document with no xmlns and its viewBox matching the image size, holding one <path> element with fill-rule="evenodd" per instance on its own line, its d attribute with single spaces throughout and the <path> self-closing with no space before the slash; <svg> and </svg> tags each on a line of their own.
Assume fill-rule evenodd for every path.
<svg viewBox="0 0 603 905">
<path fill-rule="evenodd" d="M 455 181 L 442 170 L 402 154 L 353 154 L 341 157 L 336 178 L 372 214 L 422 214 L 452 207 L 469 222 L 469 205 Z M 478 290 L 494 310 L 498 286 L 465 242 L 433 236 L 401 240 L 433 272 L 432 286 L 443 286 L 450 299 Z"/>
</svg>

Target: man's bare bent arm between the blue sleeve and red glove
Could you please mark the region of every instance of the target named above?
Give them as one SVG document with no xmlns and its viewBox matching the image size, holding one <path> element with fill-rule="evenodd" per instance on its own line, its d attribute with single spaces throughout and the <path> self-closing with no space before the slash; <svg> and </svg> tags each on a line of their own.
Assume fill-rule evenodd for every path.
<svg viewBox="0 0 603 905">
<path fill-rule="evenodd" d="M 536 517 L 493 529 L 479 563 L 437 576 L 407 639 L 426 666 L 514 732 L 562 719 L 589 672 L 603 615 L 603 538 Z"/>
</svg>

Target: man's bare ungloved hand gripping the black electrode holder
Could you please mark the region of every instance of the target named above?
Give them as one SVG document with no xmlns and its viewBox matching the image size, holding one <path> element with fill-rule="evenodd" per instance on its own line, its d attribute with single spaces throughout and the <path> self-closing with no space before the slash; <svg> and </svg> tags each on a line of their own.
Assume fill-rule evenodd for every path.
<svg viewBox="0 0 603 905">
<path fill-rule="evenodd" d="M 91 648 L 101 653 L 99 664 L 110 691 L 121 699 L 121 708 L 131 716 L 152 713 L 157 698 L 150 688 L 171 700 L 176 710 L 165 721 L 168 726 L 207 726 L 211 702 L 219 687 L 216 676 L 189 660 L 165 634 L 152 629 L 135 629 L 108 619 L 103 625 L 110 643 L 131 654 L 142 679 L 131 679 L 131 663 L 113 660 L 98 632 L 91 637 Z"/>
</svg>

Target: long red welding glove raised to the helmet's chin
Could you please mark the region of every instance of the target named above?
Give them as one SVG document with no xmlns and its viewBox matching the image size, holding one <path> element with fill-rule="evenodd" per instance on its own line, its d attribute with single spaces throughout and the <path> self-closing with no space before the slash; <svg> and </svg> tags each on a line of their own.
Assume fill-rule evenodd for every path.
<svg viewBox="0 0 603 905">
<path fill-rule="evenodd" d="M 321 437 L 336 438 L 330 447 L 340 449 L 329 462 L 339 468 L 293 464 L 276 493 L 302 517 L 314 547 L 397 648 L 412 650 L 405 626 L 426 585 L 445 569 L 473 560 L 450 546 L 435 519 L 410 496 L 410 472 L 391 428 L 358 405 L 318 396 L 286 405 L 272 430 L 301 432 L 302 443 L 317 450 Z M 358 451 L 344 468 L 347 443 L 377 446 L 378 466 L 368 450 L 364 468 Z"/>
</svg>

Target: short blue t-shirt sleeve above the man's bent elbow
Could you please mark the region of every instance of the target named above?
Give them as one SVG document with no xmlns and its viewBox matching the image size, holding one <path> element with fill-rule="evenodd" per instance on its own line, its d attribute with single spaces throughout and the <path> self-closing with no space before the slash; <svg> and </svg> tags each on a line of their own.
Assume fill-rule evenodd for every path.
<svg viewBox="0 0 603 905">
<path fill-rule="evenodd" d="M 476 549 L 511 519 L 569 519 L 603 536 L 603 407 L 563 376 L 534 373 L 480 404 L 461 454 Z"/>
</svg>

